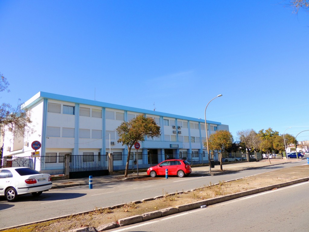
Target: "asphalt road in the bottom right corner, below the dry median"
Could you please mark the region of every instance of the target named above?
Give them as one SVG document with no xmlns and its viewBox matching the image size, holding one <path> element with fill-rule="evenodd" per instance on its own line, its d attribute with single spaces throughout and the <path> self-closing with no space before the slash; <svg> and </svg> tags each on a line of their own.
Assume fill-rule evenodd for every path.
<svg viewBox="0 0 309 232">
<path fill-rule="evenodd" d="M 309 182 L 304 182 L 108 231 L 307 232 L 309 228 L 308 192 Z"/>
</svg>

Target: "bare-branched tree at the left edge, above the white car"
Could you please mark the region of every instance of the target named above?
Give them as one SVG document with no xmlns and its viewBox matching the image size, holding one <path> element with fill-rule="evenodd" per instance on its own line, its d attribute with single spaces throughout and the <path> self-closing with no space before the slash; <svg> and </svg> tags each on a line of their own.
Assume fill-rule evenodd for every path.
<svg viewBox="0 0 309 232">
<path fill-rule="evenodd" d="M 7 79 L 0 73 L 0 92 L 8 89 L 9 83 Z M 20 99 L 19 99 L 20 100 Z M 29 124 L 32 122 L 28 114 L 28 110 L 18 104 L 16 108 L 10 104 L 2 103 L 0 105 L 0 133 L 3 135 L 5 131 L 11 131 L 14 137 L 23 137 L 25 131 L 32 131 Z"/>
</svg>

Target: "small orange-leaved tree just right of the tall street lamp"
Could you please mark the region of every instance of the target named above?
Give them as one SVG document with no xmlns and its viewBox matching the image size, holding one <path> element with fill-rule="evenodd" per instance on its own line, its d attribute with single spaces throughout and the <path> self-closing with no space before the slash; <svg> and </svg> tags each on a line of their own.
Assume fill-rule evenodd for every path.
<svg viewBox="0 0 309 232">
<path fill-rule="evenodd" d="M 229 131 L 216 131 L 216 133 L 211 134 L 208 139 L 209 149 L 222 151 L 224 149 L 229 149 L 233 144 L 233 135 Z M 207 147 L 207 143 L 204 142 L 204 147 Z M 222 153 L 219 153 L 220 160 L 220 170 L 222 169 Z M 209 164 L 210 165 L 210 164 Z"/>
</svg>

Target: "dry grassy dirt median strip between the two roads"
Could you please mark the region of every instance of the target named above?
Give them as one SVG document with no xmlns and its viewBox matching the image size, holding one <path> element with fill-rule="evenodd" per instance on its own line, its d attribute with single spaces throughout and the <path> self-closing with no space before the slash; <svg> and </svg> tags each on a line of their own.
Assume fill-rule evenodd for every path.
<svg viewBox="0 0 309 232">
<path fill-rule="evenodd" d="M 3 230 L 5 232 L 63 232 L 84 226 L 98 227 L 102 224 L 118 221 L 118 219 L 141 215 L 151 211 L 175 207 L 177 205 L 192 203 L 198 200 L 214 198 L 222 195 L 233 194 L 240 191 L 250 190 L 258 187 L 265 187 L 273 184 L 284 183 L 290 180 L 308 177 L 309 165 L 297 166 L 283 170 L 277 170 L 252 177 L 247 177 L 231 182 L 224 180 L 219 184 L 209 183 L 203 187 L 185 193 L 168 194 L 162 190 L 162 198 L 146 201 L 140 204 L 127 203 L 121 208 L 98 208 L 93 211 L 71 215 L 66 218 L 41 222 L 29 226 L 17 227 L 14 229 Z"/>
</svg>

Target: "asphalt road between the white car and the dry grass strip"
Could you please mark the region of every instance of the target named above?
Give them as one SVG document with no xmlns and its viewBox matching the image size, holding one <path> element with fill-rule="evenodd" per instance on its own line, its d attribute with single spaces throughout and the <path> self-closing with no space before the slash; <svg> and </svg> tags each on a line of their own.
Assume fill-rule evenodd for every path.
<svg viewBox="0 0 309 232">
<path fill-rule="evenodd" d="M 259 173 L 278 170 L 285 167 L 306 164 L 298 161 L 288 164 L 270 166 L 261 169 L 245 170 L 219 176 L 155 178 L 151 180 L 111 182 L 96 184 L 93 189 L 88 186 L 53 189 L 39 197 L 23 195 L 17 202 L 9 203 L 0 199 L 0 228 L 16 226 L 52 217 L 93 210 L 95 207 L 107 207 L 130 201 L 164 195 L 176 191 L 188 191 L 219 181 L 243 178 Z M 238 165 L 238 164 L 235 164 Z M 3 216 L 2 216 L 3 215 Z"/>
</svg>

